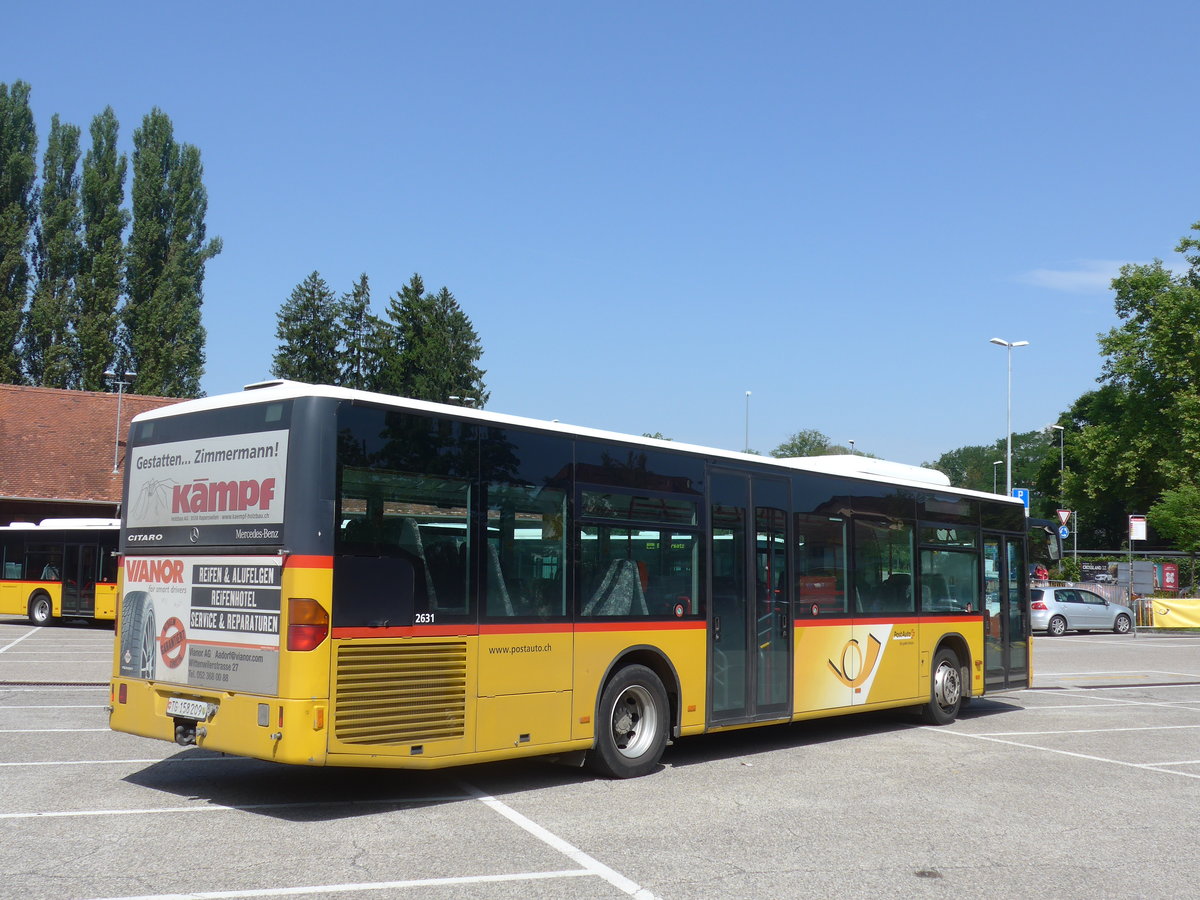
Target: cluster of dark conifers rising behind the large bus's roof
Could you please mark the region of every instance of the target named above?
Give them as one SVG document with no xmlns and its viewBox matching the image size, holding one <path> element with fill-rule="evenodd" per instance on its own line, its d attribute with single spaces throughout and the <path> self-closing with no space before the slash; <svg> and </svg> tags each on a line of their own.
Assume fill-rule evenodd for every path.
<svg viewBox="0 0 1200 900">
<path fill-rule="evenodd" d="M 314 271 L 276 319 L 276 378 L 475 408 L 487 403 L 484 350 L 470 318 L 449 288 L 426 292 L 418 274 L 389 298 L 380 318 L 371 312 L 366 274 L 338 296 Z"/>
</svg>

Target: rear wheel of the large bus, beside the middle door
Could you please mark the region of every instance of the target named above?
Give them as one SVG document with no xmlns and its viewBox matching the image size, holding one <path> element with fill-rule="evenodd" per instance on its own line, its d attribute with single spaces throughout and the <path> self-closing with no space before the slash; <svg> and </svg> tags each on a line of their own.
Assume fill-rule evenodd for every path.
<svg viewBox="0 0 1200 900">
<path fill-rule="evenodd" d="M 606 778 L 653 772 L 667 745 L 670 715 L 666 689 L 654 672 L 646 666 L 619 670 L 600 695 L 588 767 Z"/>
</svg>

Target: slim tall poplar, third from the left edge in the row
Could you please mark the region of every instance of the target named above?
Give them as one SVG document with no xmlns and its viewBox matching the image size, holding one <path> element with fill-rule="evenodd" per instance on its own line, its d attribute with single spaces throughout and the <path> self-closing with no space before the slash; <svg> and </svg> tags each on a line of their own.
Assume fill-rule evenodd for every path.
<svg viewBox="0 0 1200 900">
<path fill-rule="evenodd" d="M 112 107 L 91 120 L 91 149 L 83 161 L 83 251 L 78 296 L 80 386 L 103 390 L 104 370 L 116 356 L 116 307 L 125 268 L 125 154 L 116 151 L 118 122 Z"/>
</svg>

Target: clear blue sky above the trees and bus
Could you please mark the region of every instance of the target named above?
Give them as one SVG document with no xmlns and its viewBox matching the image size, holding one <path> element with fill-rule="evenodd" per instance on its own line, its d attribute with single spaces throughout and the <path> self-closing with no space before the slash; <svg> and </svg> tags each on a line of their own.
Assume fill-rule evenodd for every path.
<svg viewBox="0 0 1200 900">
<path fill-rule="evenodd" d="M 490 408 L 919 463 L 1094 386 L 1108 282 L 1200 220 L 1192 2 L 17 4 L 0 80 L 200 148 L 204 390 L 318 270 L 420 272 Z M 1194 338 L 1190 338 L 1194 340 Z"/>
</svg>

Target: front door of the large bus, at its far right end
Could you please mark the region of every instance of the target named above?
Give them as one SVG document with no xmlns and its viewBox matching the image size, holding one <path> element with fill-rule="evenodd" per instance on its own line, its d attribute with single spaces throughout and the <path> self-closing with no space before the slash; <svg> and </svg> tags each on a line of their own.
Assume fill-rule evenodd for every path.
<svg viewBox="0 0 1200 900">
<path fill-rule="evenodd" d="M 984 690 L 1028 686 L 1030 629 L 1025 542 L 986 534 L 984 565 Z"/>
</svg>

